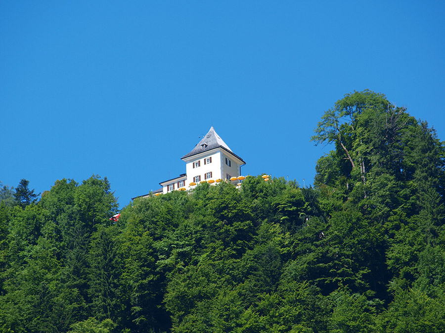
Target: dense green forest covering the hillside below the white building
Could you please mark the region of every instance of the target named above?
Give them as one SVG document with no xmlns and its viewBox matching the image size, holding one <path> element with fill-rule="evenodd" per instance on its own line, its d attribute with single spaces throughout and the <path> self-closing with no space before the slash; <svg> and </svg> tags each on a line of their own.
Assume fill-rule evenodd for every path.
<svg viewBox="0 0 445 333">
<path fill-rule="evenodd" d="M 117 222 L 106 178 L 2 186 L 1 332 L 445 332 L 444 143 L 369 90 L 312 141 L 313 187 L 201 184 Z"/>
</svg>

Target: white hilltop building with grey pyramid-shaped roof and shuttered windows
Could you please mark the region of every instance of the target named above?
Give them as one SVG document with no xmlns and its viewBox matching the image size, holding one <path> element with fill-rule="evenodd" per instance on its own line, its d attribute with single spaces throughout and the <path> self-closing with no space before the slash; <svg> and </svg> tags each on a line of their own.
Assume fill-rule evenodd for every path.
<svg viewBox="0 0 445 333">
<path fill-rule="evenodd" d="M 224 143 L 213 126 L 195 148 L 181 159 L 186 163 L 185 174 L 159 183 L 162 193 L 178 189 L 188 190 L 201 182 L 215 184 L 230 181 L 230 178 L 241 176 L 241 166 L 246 164 Z M 161 189 L 153 193 L 161 193 Z"/>
</svg>

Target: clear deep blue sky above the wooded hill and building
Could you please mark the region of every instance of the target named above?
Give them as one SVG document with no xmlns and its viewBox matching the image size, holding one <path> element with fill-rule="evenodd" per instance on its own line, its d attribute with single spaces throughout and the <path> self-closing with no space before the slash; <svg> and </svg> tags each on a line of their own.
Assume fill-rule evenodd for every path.
<svg viewBox="0 0 445 333">
<path fill-rule="evenodd" d="M 108 177 L 121 207 L 213 125 L 243 174 L 312 184 L 344 94 L 445 139 L 444 1 L 1 1 L 0 181 Z"/>
</svg>

